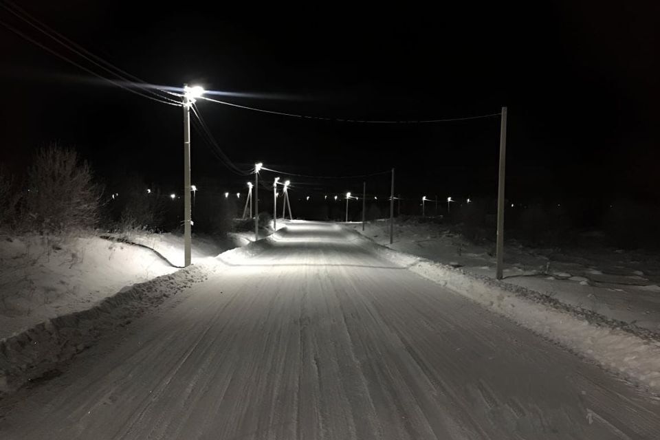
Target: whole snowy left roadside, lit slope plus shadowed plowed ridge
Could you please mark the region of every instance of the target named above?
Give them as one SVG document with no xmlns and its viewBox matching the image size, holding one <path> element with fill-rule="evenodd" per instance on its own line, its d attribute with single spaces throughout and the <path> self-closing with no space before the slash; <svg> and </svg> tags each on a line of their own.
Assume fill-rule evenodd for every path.
<svg viewBox="0 0 660 440">
<path fill-rule="evenodd" d="M 3 237 L 0 250 L 0 394 L 41 377 L 164 298 L 203 280 L 177 271 L 180 236 L 139 234 L 141 246 L 98 236 Z M 193 263 L 223 248 L 197 237 Z"/>
</svg>

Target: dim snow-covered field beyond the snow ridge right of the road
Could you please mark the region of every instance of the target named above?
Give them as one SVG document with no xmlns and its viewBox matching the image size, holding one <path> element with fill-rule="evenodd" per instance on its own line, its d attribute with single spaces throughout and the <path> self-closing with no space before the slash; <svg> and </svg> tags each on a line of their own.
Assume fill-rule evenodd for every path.
<svg viewBox="0 0 660 440">
<path fill-rule="evenodd" d="M 362 223 L 349 223 L 362 233 Z M 389 244 L 385 221 L 367 223 L 364 235 L 388 248 L 421 256 L 472 274 L 494 278 L 492 250 L 472 245 L 435 223 L 395 225 Z M 643 251 L 531 249 L 507 243 L 505 282 L 548 294 L 660 334 L 660 257 Z"/>
</svg>

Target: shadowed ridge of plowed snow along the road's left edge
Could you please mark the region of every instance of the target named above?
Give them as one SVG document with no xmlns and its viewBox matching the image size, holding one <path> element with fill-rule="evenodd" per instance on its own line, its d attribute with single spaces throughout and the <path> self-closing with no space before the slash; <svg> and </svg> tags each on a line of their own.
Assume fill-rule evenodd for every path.
<svg viewBox="0 0 660 440">
<path fill-rule="evenodd" d="M 203 281 L 206 273 L 193 265 L 159 276 L 123 289 L 91 309 L 46 320 L 0 340 L 0 396 L 47 375 L 57 364 L 89 347 L 104 331 L 128 325 L 148 307 Z"/>
</svg>

